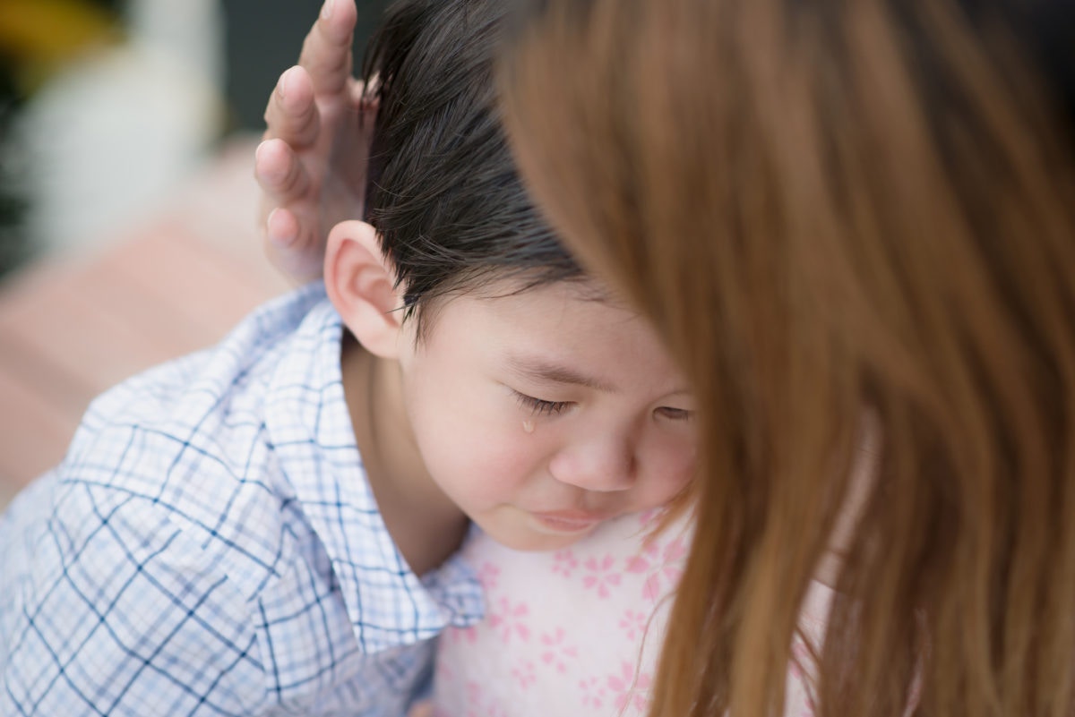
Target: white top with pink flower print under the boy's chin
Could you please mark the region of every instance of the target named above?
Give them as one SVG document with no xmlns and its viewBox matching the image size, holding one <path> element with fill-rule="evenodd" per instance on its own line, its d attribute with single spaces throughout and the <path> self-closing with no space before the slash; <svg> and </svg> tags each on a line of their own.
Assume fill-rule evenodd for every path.
<svg viewBox="0 0 1075 717">
<path fill-rule="evenodd" d="M 478 571 L 487 615 L 442 635 L 434 714 L 644 715 L 690 537 L 683 521 L 646 540 L 653 520 L 654 513 L 619 518 L 556 553 L 518 553 L 483 535 L 472 539 L 463 557 Z M 815 583 L 804 604 L 802 629 L 815 644 L 830 596 Z M 808 665 L 805 645 L 794 650 Z M 793 667 L 787 715 L 813 715 L 808 683 Z"/>
</svg>

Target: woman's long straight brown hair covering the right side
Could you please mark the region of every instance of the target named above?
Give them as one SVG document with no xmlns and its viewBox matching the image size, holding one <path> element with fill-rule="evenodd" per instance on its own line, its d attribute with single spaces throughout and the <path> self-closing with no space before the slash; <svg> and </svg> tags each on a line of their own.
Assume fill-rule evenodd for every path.
<svg viewBox="0 0 1075 717">
<path fill-rule="evenodd" d="M 506 50 L 532 192 L 703 407 L 651 715 L 780 713 L 841 516 L 818 715 L 1073 714 L 1075 41 L 1009 4 L 544 0 Z"/>
</svg>

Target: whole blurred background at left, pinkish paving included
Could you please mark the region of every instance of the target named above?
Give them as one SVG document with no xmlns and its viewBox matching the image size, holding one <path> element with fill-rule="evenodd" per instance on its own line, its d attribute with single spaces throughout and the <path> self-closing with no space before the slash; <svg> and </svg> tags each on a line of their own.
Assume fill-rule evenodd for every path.
<svg viewBox="0 0 1075 717">
<path fill-rule="evenodd" d="M 386 0 L 358 0 L 357 60 Z M 319 0 L 0 0 L 0 507 L 88 400 L 287 289 L 253 153 Z"/>
</svg>

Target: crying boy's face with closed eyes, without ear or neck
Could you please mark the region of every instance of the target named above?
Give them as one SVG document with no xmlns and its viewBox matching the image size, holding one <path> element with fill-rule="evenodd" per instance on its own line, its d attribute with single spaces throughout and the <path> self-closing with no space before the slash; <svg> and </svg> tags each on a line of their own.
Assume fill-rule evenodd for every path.
<svg viewBox="0 0 1075 717">
<path fill-rule="evenodd" d="M 421 457 L 505 545 L 569 545 L 690 479 L 692 398 L 626 309 L 567 282 L 464 295 L 436 310 L 421 342 L 413 327 L 405 340 L 403 401 Z"/>
</svg>

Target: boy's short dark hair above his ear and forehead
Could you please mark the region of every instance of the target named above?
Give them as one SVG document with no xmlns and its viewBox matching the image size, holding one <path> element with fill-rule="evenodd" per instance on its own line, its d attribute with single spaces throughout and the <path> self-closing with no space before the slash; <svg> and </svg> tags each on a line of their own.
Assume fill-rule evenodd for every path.
<svg viewBox="0 0 1075 717">
<path fill-rule="evenodd" d="M 362 63 L 379 102 L 366 217 L 419 335 L 433 298 L 493 279 L 519 279 L 521 290 L 583 278 L 527 195 L 501 129 L 493 63 L 510 4 L 393 2 Z"/>
</svg>

